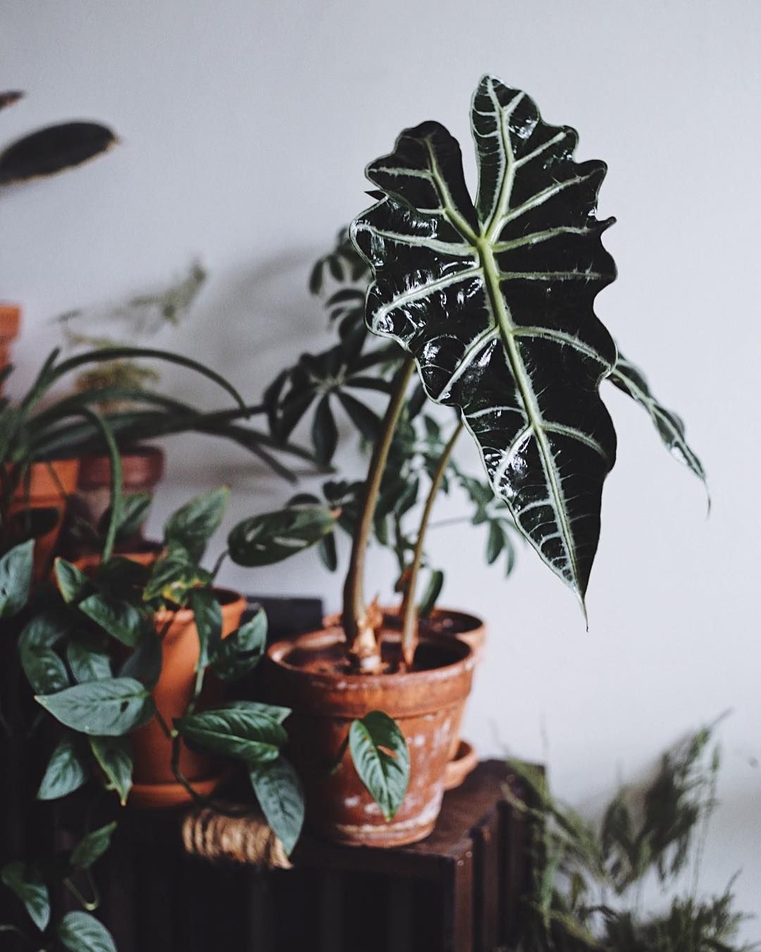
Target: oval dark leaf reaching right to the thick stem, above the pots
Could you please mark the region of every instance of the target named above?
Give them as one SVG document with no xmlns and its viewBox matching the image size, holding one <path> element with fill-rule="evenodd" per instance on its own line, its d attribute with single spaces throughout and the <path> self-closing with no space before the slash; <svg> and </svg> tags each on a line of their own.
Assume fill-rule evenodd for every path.
<svg viewBox="0 0 761 952">
<path fill-rule="evenodd" d="M 320 542 L 336 516 L 324 506 L 300 506 L 252 516 L 227 537 L 233 562 L 246 567 L 272 565 Z"/>
</svg>

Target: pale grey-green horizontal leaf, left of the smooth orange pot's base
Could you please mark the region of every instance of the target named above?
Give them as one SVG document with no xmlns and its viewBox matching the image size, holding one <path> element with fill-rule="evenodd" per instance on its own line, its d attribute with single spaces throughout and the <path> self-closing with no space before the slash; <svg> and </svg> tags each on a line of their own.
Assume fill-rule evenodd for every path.
<svg viewBox="0 0 761 952">
<path fill-rule="evenodd" d="M 121 737 L 146 724 L 155 711 L 146 687 L 133 678 L 75 684 L 37 701 L 61 724 L 83 734 Z"/>
</svg>

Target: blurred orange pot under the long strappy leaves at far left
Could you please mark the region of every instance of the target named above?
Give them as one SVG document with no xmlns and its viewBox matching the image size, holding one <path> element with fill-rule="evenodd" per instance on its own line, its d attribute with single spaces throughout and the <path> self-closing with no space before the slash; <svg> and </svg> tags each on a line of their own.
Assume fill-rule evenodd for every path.
<svg viewBox="0 0 761 952">
<path fill-rule="evenodd" d="M 34 541 L 34 581 L 49 572 L 50 561 L 64 522 L 68 497 L 77 485 L 79 460 L 32 463 L 29 486 L 22 480 L 10 501 L 10 516 L 21 517 L 28 509 L 56 509 L 55 525 Z"/>
</svg>

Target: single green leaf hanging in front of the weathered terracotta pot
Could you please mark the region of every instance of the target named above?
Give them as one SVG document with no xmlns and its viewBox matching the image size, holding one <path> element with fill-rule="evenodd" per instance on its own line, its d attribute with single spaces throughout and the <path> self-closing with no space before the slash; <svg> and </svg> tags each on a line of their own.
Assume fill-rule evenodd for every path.
<svg viewBox="0 0 761 952">
<path fill-rule="evenodd" d="M 410 754 L 399 725 L 382 711 L 370 711 L 352 721 L 349 750 L 367 792 L 385 820 L 393 820 L 410 779 Z"/>
</svg>

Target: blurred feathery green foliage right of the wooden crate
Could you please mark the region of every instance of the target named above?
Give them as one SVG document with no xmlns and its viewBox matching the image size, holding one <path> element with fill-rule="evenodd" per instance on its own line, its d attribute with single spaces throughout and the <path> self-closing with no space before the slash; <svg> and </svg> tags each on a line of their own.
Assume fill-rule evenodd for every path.
<svg viewBox="0 0 761 952">
<path fill-rule="evenodd" d="M 553 799 L 544 774 L 514 763 L 525 793 L 507 791 L 533 820 L 533 884 L 519 952 L 739 952 L 732 887 L 719 897 L 672 899 L 665 912 L 640 908 L 641 884 L 666 893 L 699 861 L 715 805 L 718 748 L 712 728 L 666 754 L 645 790 L 621 790 L 595 825 Z M 695 880 L 697 867 L 694 868 Z M 756 946 L 752 946 L 755 948 Z"/>
</svg>

